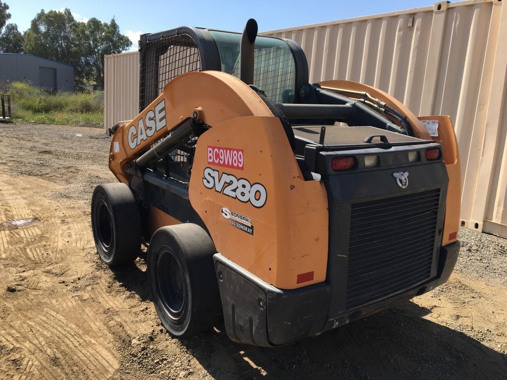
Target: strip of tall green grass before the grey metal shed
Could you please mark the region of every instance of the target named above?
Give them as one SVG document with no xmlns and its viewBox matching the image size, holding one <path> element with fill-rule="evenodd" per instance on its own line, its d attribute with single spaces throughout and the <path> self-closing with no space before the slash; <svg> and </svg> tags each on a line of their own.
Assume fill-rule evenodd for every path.
<svg viewBox="0 0 507 380">
<path fill-rule="evenodd" d="M 13 82 L 11 95 L 14 122 L 103 126 L 103 93 L 48 93 L 26 83 Z"/>
</svg>

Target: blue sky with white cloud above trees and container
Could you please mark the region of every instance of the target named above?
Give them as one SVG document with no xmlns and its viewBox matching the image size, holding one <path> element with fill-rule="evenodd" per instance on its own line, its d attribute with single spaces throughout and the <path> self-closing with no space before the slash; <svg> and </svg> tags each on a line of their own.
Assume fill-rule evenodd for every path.
<svg viewBox="0 0 507 380">
<path fill-rule="evenodd" d="M 202 26 L 213 29 L 242 31 L 246 20 L 255 18 L 259 32 L 284 29 L 319 22 L 343 20 L 432 6 L 432 0 L 292 0 L 292 1 L 192 1 L 192 0 L 3 0 L 23 32 L 30 21 L 44 9 L 69 8 L 78 21 L 95 17 L 109 22 L 115 17 L 121 32 L 133 42 L 137 50 L 141 33 L 155 33 L 178 26 Z"/>
</svg>

